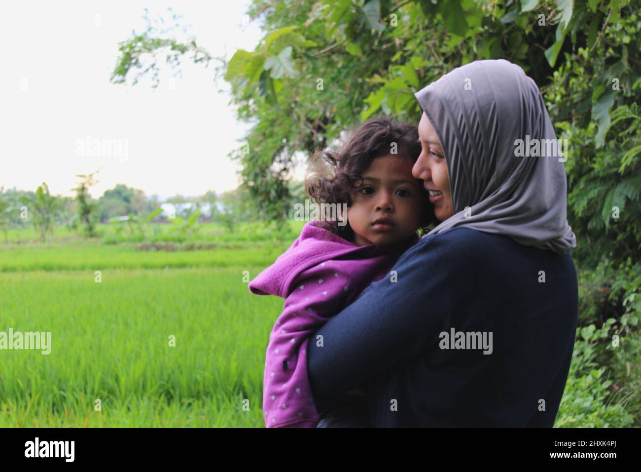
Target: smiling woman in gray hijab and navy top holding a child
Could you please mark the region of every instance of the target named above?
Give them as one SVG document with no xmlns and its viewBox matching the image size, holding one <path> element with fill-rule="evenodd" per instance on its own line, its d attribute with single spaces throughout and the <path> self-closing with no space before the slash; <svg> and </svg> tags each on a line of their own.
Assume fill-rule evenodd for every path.
<svg viewBox="0 0 641 472">
<path fill-rule="evenodd" d="M 551 427 L 578 288 L 564 159 L 516 152 L 556 142 L 543 98 L 506 60 L 458 67 L 416 98 L 412 173 L 442 223 L 310 338 L 314 401 L 365 383 L 373 427 Z"/>
</svg>

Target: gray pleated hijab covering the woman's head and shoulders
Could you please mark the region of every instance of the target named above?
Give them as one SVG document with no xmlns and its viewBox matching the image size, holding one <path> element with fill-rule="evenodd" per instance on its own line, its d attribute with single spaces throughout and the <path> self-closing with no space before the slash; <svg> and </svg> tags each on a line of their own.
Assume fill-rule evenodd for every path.
<svg viewBox="0 0 641 472">
<path fill-rule="evenodd" d="M 554 252 L 576 246 L 567 223 L 567 147 L 560 157 L 543 97 L 523 69 L 478 60 L 415 96 L 445 153 L 454 213 L 428 234 L 467 227 Z M 533 139 L 540 140 L 544 156 L 517 157 L 518 139 L 531 154 Z M 554 139 L 547 152 L 543 139 Z"/>
</svg>

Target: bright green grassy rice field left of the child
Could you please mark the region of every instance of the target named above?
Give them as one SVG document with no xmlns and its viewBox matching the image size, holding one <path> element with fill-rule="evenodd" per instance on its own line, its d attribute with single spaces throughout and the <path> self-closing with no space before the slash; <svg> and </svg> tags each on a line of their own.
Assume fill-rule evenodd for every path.
<svg viewBox="0 0 641 472">
<path fill-rule="evenodd" d="M 0 351 L 0 427 L 263 427 L 283 300 L 249 293 L 243 275 L 294 238 L 189 252 L 72 237 L 1 246 L 0 331 L 50 331 L 51 353 Z"/>
</svg>

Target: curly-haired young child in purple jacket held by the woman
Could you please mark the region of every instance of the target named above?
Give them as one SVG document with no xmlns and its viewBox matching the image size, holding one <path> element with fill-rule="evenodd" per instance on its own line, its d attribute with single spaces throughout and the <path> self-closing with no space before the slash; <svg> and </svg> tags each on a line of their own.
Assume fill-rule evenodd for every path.
<svg viewBox="0 0 641 472">
<path fill-rule="evenodd" d="M 369 119 L 340 152 L 323 154 L 329 168 L 315 156 L 314 164 L 324 168 L 306 179 L 307 192 L 320 204 L 346 204 L 347 221 L 307 222 L 291 247 L 249 284 L 252 293 L 285 299 L 265 358 L 268 428 L 319 425 L 307 378 L 309 337 L 369 284 L 383 279 L 404 250 L 419 241 L 417 229 L 435 221 L 428 191 L 412 176 L 420 154 L 415 126 Z M 318 338 L 325 349 L 349 342 Z M 352 399 L 361 396 L 360 405 L 365 405 L 364 393 L 348 392 Z"/>
</svg>

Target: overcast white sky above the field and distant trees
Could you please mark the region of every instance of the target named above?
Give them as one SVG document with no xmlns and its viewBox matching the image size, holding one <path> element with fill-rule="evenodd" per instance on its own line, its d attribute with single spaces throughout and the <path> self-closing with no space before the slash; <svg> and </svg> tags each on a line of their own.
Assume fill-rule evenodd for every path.
<svg viewBox="0 0 641 472">
<path fill-rule="evenodd" d="M 167 7 L 192 24 L 190 34 L 213 56 L 251 50 L 260 25 L 244 14 L 249 0 L 65 1 L 3 4 L 0 16 L 0 186 L 35 190 L 47 182 L 54 194 L 72 195 L 75 175 L 98 168 L 94 197 L 117 183 L 161 198 L 199 195 L 238 186 L 237 148 L 248 125 L 237 123 L 224 80 L 183 61 L 183 78 L 161 74 L 137 85 L 109 82 L 118 42 L 145 30 Z M 97 17 L 96 15 L 99 15 Z M 96 25 L 99 20 L 101 24 Z M 164 62 L 164 60 L 163 60 Z M 78 140 L 119 139 L 121 153 L 78 153 Z M 124 146 L 127 146 L 126 148 Z M 126 157 L 124 151 L 127 151 Z M 102 153 L 102 151 L 101 151 Z"/>
</svg>

